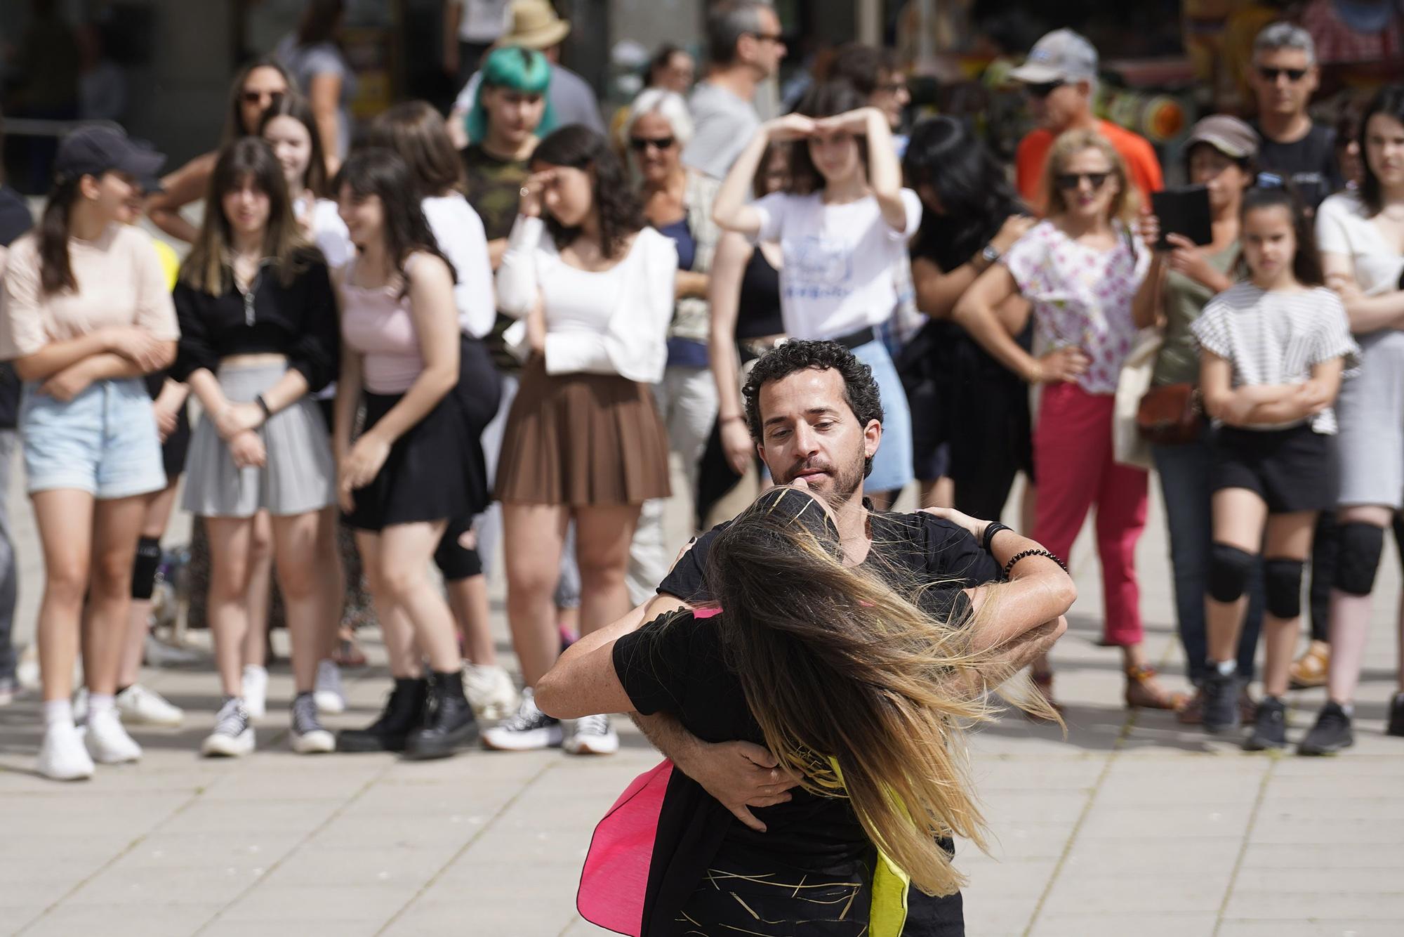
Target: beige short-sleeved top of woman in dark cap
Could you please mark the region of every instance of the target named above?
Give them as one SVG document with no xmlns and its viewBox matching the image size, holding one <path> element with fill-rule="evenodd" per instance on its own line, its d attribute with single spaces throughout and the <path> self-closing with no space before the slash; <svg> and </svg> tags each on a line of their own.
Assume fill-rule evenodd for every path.
<svg viewBox="0 0 1404 937">
<path fill-rule="evenodd" d="M 29 232 L 14 242 L 0 303 L 0 361 L 105 326 L 138 326 L 166 341 L 180 337 L 150 235 L 114 223 L 97 240 L 69 237 L 69 263 L 79 288 L 45 295 L 38 237 Z"/>
</svg>

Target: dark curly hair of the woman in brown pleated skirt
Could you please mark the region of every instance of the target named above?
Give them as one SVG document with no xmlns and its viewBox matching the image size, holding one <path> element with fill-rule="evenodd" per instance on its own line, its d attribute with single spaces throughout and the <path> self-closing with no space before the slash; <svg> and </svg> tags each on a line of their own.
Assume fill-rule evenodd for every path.
<svg viewBox="0 0 1404 937">
<path fill-rule="evenodd" d="M 594 211 L 600 214 L 600 249 L 605 257 L 618 256 L 625 239 L 643 230 L 643 205 L 625 174 L 623 163 L 602 133 L 581 124 L 570 124 L 538 143 L 531 162 L 590 173 L 594 181 Z M 580 236 L 578 228 L 566 228 L 549 211 L 543 214 L 557 250 Z"/>
</svg>

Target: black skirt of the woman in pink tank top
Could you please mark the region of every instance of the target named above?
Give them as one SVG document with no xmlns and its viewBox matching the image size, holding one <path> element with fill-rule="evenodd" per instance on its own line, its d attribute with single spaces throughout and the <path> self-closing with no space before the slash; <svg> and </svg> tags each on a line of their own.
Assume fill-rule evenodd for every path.
<svg viewBox="0 0 1404 937">
<path fill-rule="evenodd" d="M 365 393 L 365 428 L 379 423 L 403 393 Z M 390 447 L 380 472 L 352 492 L 347 523 L 380 531 L 393 524 L 446 521 L 472 510 L 468 440 L 458 396 L 449 392 Z M 486 485 L 483 486 L 486 492 Z"/>
</svg>

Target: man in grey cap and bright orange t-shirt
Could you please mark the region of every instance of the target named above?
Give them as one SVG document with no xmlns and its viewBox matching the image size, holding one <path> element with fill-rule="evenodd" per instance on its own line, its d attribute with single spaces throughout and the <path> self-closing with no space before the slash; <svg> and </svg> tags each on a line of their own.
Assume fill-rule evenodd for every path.
<svg viewBox="0 0 1404 937">
<path fill-rule="evenodd" d="M 1019 140 L 1015 170 L 1019 195 L 1040 208 L 1047 201 L 1043 167 L 1059 135 L 1073 129 L 1097 129 L 1126 160 L 1132 184 L 1150 204 L 1150 194 L 1164 187 L 1160 160 L 1150 142 L 1132 131 L 1092 114 L 1097 93 L 1097 49 L 1071 30 L 1054 30 L 1033 44 L 1024 65 L 1009 77 L 1024 84 L 1029 110 L 1039 126 Z"/>
</svg>

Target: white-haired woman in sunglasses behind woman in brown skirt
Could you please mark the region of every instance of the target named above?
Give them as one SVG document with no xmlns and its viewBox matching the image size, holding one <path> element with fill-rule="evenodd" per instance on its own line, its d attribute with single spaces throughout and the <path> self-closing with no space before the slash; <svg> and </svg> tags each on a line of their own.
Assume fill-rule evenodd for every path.
<svg viewBox="0 0 1404 937">
<path fill-rule="evenodd" d="M 668 326 L 668 365 L 653 385 L 670 448 L 682 457 L 688 494 L 698 503 L 702 454 L 716 423 L 716 384 L 708 362 L 708 281 L 720 230 L 712 222 L 717 183 L 682 166 L 692 139 L 692 118 L 681 94 L 643 91 L 629 108 L 619 135 L 640 181 L 643 216 L 678 249 L 677 305 Z M 696 511 L 694 511 L 696 516 Z M 694 520 L 694 524 L 701 518 Z M 663 502 L 647 502 L 639 517 L 630 563 L 636 598 L 651 594 L 668 572 Z"/>
</svg>

